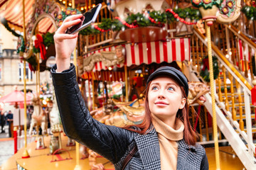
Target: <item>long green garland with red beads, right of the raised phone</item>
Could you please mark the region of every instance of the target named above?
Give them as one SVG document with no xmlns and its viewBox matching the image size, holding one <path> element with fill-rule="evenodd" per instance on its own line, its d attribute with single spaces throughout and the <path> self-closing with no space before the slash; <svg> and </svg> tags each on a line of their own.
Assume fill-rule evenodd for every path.
<svg viewBox="0 0 256 170">
<path fill-rule="evenodd" d="M 198 9 L 194 8 L 177 8 L 173 10 L 174 13 L 177 13 L 179 18 L 190 18 L 193 20 L 200 20 L 202 18 L 201 13 Z M 97 34 L 100 32 L 105 32 L 108 30 L 118 31 L 127 28 L 136 28 L 136 27 L 147 27 L 147 26 L 158 26 L 164 27 L 166 23 L 173 23 L 174 21 L 179 21 L 177 17 L 174 16 L 170 11 L 160 12 L 160 11 L 151 11 L 149 13 L 132 13 L 129 15 L 125 21 L 116 17 L 113 20 L 110 18 L 102 18 L 101 23 L 97 25 L 92 25 L 87 27 L 84 30 L 80 31 L 81 35 L 90 35 Z"/>
</svg>

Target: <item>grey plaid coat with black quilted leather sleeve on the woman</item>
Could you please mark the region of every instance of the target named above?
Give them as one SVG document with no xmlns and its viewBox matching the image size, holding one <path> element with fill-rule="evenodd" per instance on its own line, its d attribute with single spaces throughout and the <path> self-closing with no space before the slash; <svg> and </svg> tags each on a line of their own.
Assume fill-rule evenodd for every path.
<svg viewBox="0 0 256 170">
<path fill-rule="evenodd" d="M 56 99 L 63 128 L 68 137 L 86 145 L 109 159 L 115 169 L 122 169 L 127 154 L 137 145 L 138 151 L 125 169 L 161 169 L 159 140 L 153 128 L 146 135 L 104 125 L 90 116 L 76 81 L 75 67 L 62 73 L 51 69 Z M 201 145 L 178 142 L 177 169 L 208 169 L 206 152 Z"/>
</svg>

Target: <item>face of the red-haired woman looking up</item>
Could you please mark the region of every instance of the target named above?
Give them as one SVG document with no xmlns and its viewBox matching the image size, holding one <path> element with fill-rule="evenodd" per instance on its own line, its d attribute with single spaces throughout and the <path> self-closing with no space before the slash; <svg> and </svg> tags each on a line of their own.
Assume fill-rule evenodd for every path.
<svg viewBox="0 0 256 170">
<path fill-rule="evenodd" d="M 151 81 L 148 101 L 151 113 L 171 127 L 175 123 L 178 109 L 186 104 L 181 87 L 171 77 L 157 77 Z"/>
</svg>

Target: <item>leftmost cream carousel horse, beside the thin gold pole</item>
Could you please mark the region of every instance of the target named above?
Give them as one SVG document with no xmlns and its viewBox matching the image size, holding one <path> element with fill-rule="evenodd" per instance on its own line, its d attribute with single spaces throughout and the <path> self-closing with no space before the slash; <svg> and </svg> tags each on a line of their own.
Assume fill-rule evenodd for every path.
<svg viewBox="0 0 256 170">
<path fill-rule="evenodd" d="M 36 132 L 38 134 L 39 127 L 42 129 L 42 135 L 46 134 L 46 113 L 43 111 L 41 106 L 41 101 L 39 96 L 32 99 L 33 102 L 33 113 L 31 116 L 31 125 L 28 131 L 29 135 L 32 135 L 32 130 L 36 127 Z"/>
</svg>

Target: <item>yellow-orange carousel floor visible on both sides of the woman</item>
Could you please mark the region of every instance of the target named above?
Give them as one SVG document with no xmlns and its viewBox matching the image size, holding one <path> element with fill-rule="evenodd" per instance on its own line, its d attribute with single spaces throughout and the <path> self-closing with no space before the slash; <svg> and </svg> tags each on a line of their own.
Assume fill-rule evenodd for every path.
<svg viewBox="0 0 256 170">
<path fill-rule="evenodd" d="M 3 170 L 18 169 L 19 165 L 23 169 L 75 169 L 75 146 L 67 147 L 68 137 L 62 135 L 63 149 L 67 151 L 58 155 L 49 154 L 50 136 L 44 138 L 46 149 L 36 149 L 36 142 L 28 144 L 28 153 L 30 158 L 22 159 L 23 149 L 20 149 L 10 159 L 8 159 L 0 167 Z M 220 168 L 225 170 L 241 170 L 245 167 L 240 162 L 240 159 L 236 156 L 233 149 L 229 146 L 219 147 L 220 149 Z M 70 154 L 70 156 L 69 156 Z M 215 150 L 214 147 L 207 147 L 206 154 L 210 170 L 215 169 Z M 71 157 L 71 159 L 69 159 Z M 81 155 L 80 155 L 81 157 Z M 61 160 L 62 159 L 62 160 Z M 61 161 L 60 161 L 61 160 Z M 90 169 L 88 159 L 80 159 L 81 169 Z M 97 163 L 102 163 L 105 166 L 105 170 L 114 170 L 113 164 L 103 157 L 97 158 Z"/>
</svg>

